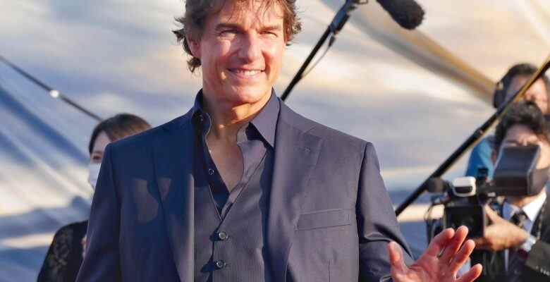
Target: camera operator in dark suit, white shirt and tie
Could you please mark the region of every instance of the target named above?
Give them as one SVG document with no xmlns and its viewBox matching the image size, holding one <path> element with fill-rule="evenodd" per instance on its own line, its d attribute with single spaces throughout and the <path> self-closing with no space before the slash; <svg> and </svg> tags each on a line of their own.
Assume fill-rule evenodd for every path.
<svg viewBox="0 0 550 282">
<path fill-rule="evenodd" d="M 514 104 L 496 127 L 494 161 L 499 150 L 508 146 L 538 145 L 540 155 L 532 193 L 506 197 L 501 216 L 487 208 L 492 223 L 484 237 L 475 240 L 477 249 L 491 253 L 485 255 L 489 259 L 479 281 L 550 281 L 550 207 L 545 189 L 550 168 L 549 141 L 549 128 L 534 102 Z"/>
</svg>

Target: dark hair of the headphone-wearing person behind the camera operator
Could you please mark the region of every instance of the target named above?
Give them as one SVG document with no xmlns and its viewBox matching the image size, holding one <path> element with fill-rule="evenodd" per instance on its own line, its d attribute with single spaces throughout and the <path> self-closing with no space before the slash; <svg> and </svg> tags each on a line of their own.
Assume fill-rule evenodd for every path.
<svg viewBox="0 0 550 282">
<path fill-rule="evenodd" d="M 533 66 L 530 63 L 516 63 L 508 72 L 501 78 L 501 80 L 496 84 L 496 88 L 493 95 L 493 106 L 499 108 L 506 99 L 506 92 L 508 87 L 512 84 L 512 81 L 515 77 L 518 76 L 531 76 L 537 72 L 537 67 Z M 544 85 L 546 86 L 546 94 L 550 98 L 550 80 L 546 75 L 542 75 L 542 80 L 544 80 Z"/>
</svg>

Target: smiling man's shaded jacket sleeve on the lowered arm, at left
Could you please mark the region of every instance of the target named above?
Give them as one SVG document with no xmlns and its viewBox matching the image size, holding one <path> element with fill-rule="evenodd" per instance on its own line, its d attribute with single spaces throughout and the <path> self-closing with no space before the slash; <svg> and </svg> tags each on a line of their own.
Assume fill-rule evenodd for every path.
<svg viewBox="0 0 550 282">
<path fill-rule="evenodd" d="M 120 202 L 111 147 L 107 145 L 99 170 L 87 229 L 86 254 L 78 272 L 78 282 L 121 281 L 118 254 Z"/>
</svg>

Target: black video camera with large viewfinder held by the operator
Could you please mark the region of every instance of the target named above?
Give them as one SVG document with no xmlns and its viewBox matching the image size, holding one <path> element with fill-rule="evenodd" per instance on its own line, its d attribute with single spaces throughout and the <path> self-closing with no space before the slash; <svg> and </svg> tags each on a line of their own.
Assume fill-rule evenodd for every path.
<svg viewBox="0 0 550 282">
<path fill-rule="evenodd" d="M 460 177 L 451 183 L 441 178 L 432 178 L 427 183 L 432 197 L 432 207 L 444 205 L 442 228 L 469 229 L 468 238 L 482 237 L 489 224 L 484 207 L 498 204 L 499 196 L 525 196 L 537 190 L 538 145 L 503 147 L 496 161 L 493 179 L 487 176 L 487 168 L 479 168 L 477 177 Z M 429 209 L 429 212 L 431 208 Z M 434 222 L 427 216 L 428 240 L 436 233 Z M 439 228 L 438 228 L 439 229 Z"/>
</svg>

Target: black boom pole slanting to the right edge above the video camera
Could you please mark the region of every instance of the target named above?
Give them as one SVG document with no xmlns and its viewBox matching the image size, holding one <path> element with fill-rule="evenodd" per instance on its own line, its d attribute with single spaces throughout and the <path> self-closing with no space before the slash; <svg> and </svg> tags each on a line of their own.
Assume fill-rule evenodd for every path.
<svg viewBox="0 0 550 282">
<path fill-rule="evenodd" d="M 429 182 L 430 178 L 441 177 L 444 173 L 446 173 L 446 171 L 448 171 L 448 168 L 450 168 L 454 163 L 456 163 L 456 161 L 458 161 L 458 159 L 462 157 L 462 155 L 466 152 L 466 150 L 472 147 L 472 145 L 474 145 L 475 142 L 477 142 L 477 140 L 483 137 L 483 135 L 487 133 L 487 130 L 489 130 L 489 128 L 491 128 L 491 126 L 498 119 L 504 116 L 504 114 L 506 114 L 508 109 L 510 109 L 510 106 L 514 102 L 518 102 L 524 96 L 525 92 L 527 92 L 527 90 L 531 87 L 531 85 L 533 85 L 535 81 L 541 78 L 542 75 L 544 75 L 544 73 L 549 68 L 550 68 L 550 56 L 546 58 L 546 61 L 537 70 L 537 72 L 535 72 L 531 76 L 530 80 L 527 81 L 525 85 L 523 85 L 523 87 L 521 87 L 520 91 L 518 91 L 518 93 L 514 95 L 513 99 L 508 100 L 508 102 L 500 106 L 499 109 L 497 109 L 496 112 L 491 117 L 489 117 L 487 121 L 485 121 L 485 123 L 483 123 L 479 128 L 477 128 L 477 130 L 475 130 L 474 133 L 472 133 L 472 135 L 470 135 L 470 137 L 468 137 L 468 139 L 465 142 L 463 142 L 462 145 L 460 145 L 460 147 L 458 147 L 458 149 L 456 149 L 456 151 L 453 152 L 453 154 L 451 154 L 451 156 L 449 156 L 443 162 L 443 164 L 441 164 L 432 174 L 430 174 L 428 178 L 424 180 L 424 182 L 418 188 L 416 188 L 416 190 L 412 192 L 412 194 L 409 197 L 407 197 L 407 199 L 405 199 L 403 203 L 401 203 L 397 207 L 396 216 L 399 216 L 399 214 L 401 214 L 410 204 L 412 204 L 412 202 L 415 202 L 415 200 L 418 197 L 420 197 L 420 195 L 422 195 L 424 191 L 427 190 L 427 183 Z"/>
</svg>

